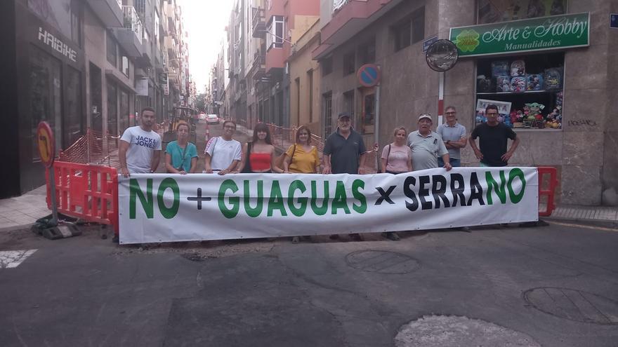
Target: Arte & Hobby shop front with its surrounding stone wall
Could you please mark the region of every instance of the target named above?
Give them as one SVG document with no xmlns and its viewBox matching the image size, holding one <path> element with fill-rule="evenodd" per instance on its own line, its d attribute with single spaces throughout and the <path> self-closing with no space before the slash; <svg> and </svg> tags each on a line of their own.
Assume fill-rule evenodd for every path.
<svg viewBox="0 0 618 347">
<path fill-rule="evenodd" d="M 449 28 L 459 62 L 445 76 L 445 102 L 460 107 L 468 133 L 497 104 L 521 140 L 509 165 L 555 167 L 559 203 L 600 205 L 618 164 L 608 13 L 579 1 L 513 4 L 476 1 L 474 21 Z M 478 160 L 467 148 L 462 162 Z"/>
</svg>

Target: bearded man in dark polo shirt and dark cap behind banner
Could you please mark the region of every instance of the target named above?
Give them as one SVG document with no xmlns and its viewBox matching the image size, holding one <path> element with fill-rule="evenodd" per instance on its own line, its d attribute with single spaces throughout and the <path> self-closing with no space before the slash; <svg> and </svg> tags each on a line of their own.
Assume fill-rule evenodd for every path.
<svg viewBox="0 0 618 347">
<path fill-rule="evenodd" d="M 362 136 L 352 128 L 350 114 L 342 112 L 338 117 L 338 127 L 324 144 L 324 170 L 322 173 L 360 174 L 365 154 Z"/>
</svg>

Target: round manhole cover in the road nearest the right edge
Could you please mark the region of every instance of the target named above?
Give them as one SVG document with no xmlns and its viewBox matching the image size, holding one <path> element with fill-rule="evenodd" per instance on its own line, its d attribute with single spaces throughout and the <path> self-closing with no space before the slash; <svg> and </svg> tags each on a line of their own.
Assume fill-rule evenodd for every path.
<svg viewBox="0 0 618 347">
<path fill-rule="evenodd" d="M 618 324 L 618 302 L 569 288 L 540 287 L 524 292 L 525 301 L 556 317 L 594 324 Z"/>
</svg>

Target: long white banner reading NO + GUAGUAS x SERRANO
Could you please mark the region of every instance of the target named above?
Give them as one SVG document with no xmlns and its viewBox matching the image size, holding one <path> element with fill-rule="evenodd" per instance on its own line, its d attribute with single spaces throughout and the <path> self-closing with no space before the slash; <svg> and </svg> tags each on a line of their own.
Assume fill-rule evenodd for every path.
<svg viewBox="0 0 618 347">
<path fill-rule="evenodd" d="M 120 243 L 376 233 L 538 220 L 536 168 L 119 177 Z"/>
</svg>

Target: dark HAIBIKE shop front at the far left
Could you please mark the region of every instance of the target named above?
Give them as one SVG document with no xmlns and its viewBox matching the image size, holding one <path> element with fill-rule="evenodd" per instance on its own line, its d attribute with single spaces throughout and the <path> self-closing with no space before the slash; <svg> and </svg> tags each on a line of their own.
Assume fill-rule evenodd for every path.
<svg viewBox="0 0 618 347">
<path fill-rule="evenodd" d="M 18 168 L 19 175 L 2 183 L 2 197 L 45 183 L 35 144 L 40 121 L 51 125 L 57 149 L 79 139 L 86 127 L 81 1 L 15 1 L 14 6 L 15 74 L 4 83 L 15 88 L 10 109 L 16 112 L 4 130 L 11 132 L 10 148 L 17 155 L 5 164 Z"/>
</svg>

